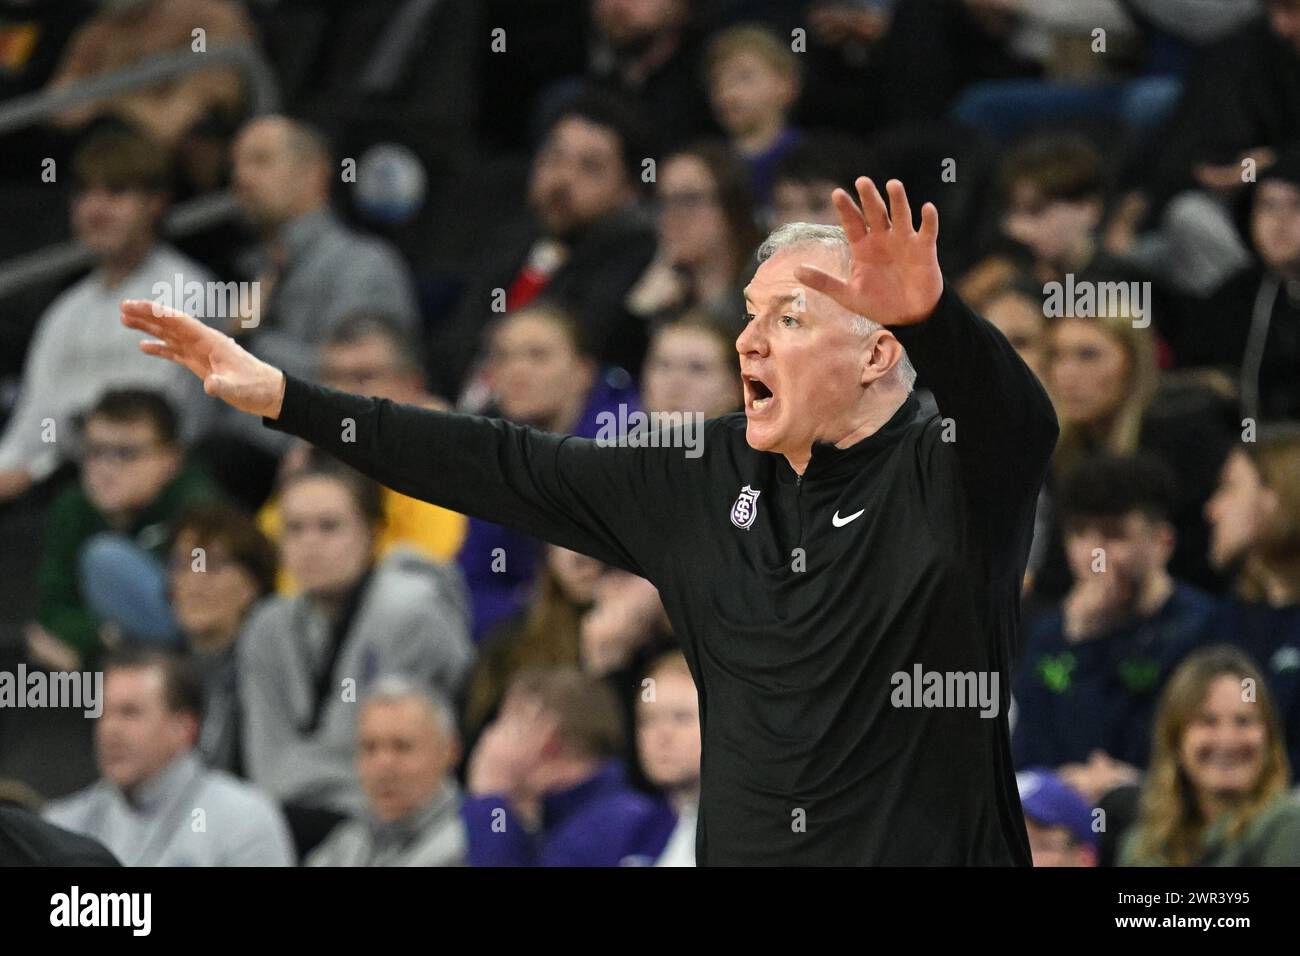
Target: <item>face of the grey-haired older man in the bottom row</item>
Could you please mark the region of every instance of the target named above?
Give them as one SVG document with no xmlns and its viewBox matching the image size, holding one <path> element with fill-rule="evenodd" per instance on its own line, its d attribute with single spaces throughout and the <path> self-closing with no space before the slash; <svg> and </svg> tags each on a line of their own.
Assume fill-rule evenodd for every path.
<svg viewBox="0 0 1300 956">
<path fill-rule="evenodd" d="M 384 822 L 428 804 L 456 758 L 455 744 L 415 697 L 370 701 L 356 724 L 356 774 Z"/>
</svg>

